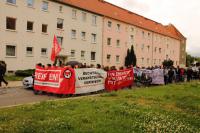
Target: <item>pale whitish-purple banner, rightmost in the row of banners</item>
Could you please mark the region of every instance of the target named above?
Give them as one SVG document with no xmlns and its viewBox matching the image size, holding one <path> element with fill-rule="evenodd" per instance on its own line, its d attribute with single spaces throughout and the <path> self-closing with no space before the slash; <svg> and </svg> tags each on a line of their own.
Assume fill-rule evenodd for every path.
<svg viewBox="0 0 200 133">
<path fill-rule="evenodd" d="M 163 69 L 154 69 L 151 73 L 152 83 L 155 85 L 164 85 L 164 73 Z"/>
</svg>

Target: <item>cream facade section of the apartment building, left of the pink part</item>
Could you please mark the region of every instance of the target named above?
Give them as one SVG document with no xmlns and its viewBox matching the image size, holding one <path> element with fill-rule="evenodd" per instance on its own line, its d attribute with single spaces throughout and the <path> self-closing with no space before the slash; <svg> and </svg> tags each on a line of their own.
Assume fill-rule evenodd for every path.
<svg viewBox="0 0 200 133">
<path fill-rule="evenodd" d="M 63 62 L 102 64 L 102 17 L 49 0 L 0 1 L 0 60 L 9 71 L 50 61 L 53 36 Z"/>
</svg>

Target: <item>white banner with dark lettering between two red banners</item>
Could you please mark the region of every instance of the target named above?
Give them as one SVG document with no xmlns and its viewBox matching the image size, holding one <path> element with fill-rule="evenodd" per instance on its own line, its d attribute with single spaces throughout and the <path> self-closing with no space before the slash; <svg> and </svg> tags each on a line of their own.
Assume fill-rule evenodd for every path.
<svg viewBox="0 0 200 133">
<path fill-rule="evenodd" d="M 76 91 L 75 94 L 83 94 L 104 90 L 107 73 L 96 68 L 75 69 Z"/>
</svg>

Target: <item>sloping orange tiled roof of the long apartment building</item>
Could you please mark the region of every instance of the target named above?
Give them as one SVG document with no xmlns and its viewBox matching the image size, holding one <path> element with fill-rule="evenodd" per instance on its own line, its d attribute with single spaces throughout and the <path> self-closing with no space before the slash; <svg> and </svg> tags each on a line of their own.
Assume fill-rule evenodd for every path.
<svg viewBox="0 0 200 133">
<path fill-rule="evenodd" d="M 81 8 L 108 18 L 112 18 L 127 24 L 140 27 L 158 34 L 172 37 L 178 40 L 185 37 L 173 26 L 164 26 L 158 22 L 145 18 L 141 15 L 105 2 L 104 0 L 56 0 L 63 4 Z"/>
</svg>

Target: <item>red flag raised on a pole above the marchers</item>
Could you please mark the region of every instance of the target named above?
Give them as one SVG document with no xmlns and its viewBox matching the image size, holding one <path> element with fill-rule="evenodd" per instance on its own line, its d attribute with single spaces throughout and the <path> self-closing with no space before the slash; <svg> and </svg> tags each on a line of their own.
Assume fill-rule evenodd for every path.
<svg viewBox="0 0 200 133">
<path fill-rule="evenodd" d="M 56 56 L 59 54 L 59 52 L 61 51 L 61 47 L 60 44 L 58 43 L 58 40 L 56 38 L 56 36 L 54 35 L 54 39 L 53 39 L 53 48 L 51 51 L 51 61 L 55 61 Z"/>
</svg>

